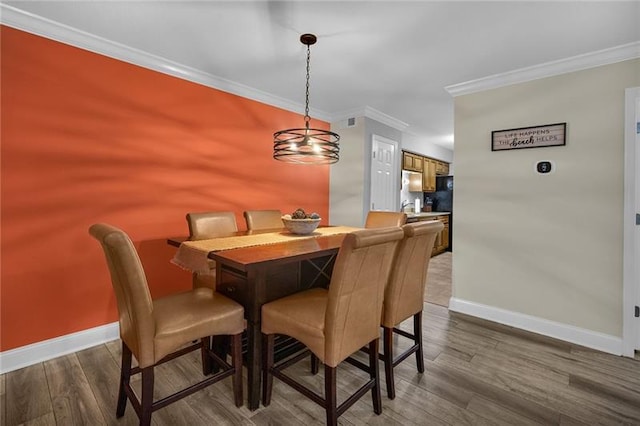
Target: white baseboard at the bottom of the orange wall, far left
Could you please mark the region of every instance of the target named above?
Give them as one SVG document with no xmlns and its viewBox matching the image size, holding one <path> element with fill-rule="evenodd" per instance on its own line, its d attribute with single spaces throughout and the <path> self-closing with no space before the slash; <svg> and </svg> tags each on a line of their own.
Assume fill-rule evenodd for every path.
<svg viewBox="0 0 640 426">
<path fill-rule="evenodd" d="M 0 352 L 0 374 L 120 338 L 117 322 Z"/>
</svg>

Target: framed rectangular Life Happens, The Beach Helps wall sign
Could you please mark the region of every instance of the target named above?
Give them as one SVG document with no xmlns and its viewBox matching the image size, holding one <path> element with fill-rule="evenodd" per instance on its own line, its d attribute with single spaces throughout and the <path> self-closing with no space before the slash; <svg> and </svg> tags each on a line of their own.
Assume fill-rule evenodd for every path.
<svg viewBox="0 0 640 426">
<path fill-rule="evenodd" d="M 567 123 L 547 124 L 491 132 L 491 151 L 561 146 L 566 143 Z"/>
</svg>

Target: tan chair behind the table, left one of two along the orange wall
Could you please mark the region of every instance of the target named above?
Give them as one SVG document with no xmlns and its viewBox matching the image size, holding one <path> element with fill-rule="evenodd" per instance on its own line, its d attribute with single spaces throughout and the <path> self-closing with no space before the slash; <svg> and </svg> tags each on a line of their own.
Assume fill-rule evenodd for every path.
<svg viewBox="0 0 640 426">
<path fill-rule="evenodd" d="M 238 232 L 236 215 L 233 212 L 199 212 L 187 213 L 189 225 L 189 239 L 206 240 Z M 206 274 L 193 273 L 193 288 L 216 288 L 216 264 L 209 260 L 209 272 Z"/>
</svg>

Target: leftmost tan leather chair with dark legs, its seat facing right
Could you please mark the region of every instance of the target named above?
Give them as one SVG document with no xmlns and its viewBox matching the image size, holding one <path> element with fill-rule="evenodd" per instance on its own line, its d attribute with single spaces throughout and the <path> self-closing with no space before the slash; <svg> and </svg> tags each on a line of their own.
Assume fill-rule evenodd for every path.
<svg viewBox="0 0 640 426">
<path fill-rule="evenodd" d="M 140 258 L 127 234 L 103 223 L 92 225 L 89 233 L 104 251 L 120 318 L 122 365 L 116 417 L 124 415 L 129 399 L 140 424 L 149 425 L 153 411 L 229 376 L 235 404 L 242 406 L 242 306 L 209 288 L 152 300 Z M 209 349 L 212 335 L 231 336 L 231 365 Z M 198 339 L 198 343 L 185 346 Z M 197 349 L 205 375 L 211 373 L 212 360 L 220 371 L 154 402 L 154 367 Z M 132 356 L 137 367 L 131 367 Z M 142 374 L 140 398 L 130 385 L 131 375 L 138 373 Z"/>
</svg>

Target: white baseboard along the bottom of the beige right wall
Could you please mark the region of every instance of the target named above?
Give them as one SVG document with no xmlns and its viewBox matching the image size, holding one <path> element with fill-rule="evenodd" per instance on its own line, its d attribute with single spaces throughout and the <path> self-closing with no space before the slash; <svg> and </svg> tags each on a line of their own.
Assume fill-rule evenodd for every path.
<svg viewBox="0 0 640 426">
<path fill-rule="evenodd" d="M 622 355 L 621 337 L 525 315 L 519 312 L 507 311 L 494 306 L 456 299 L 454 297 L 449 300 L 449 310 L 517 327 L 613 355 Z"/>
</svg>

